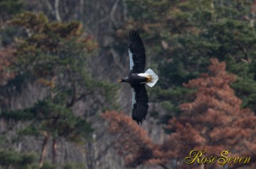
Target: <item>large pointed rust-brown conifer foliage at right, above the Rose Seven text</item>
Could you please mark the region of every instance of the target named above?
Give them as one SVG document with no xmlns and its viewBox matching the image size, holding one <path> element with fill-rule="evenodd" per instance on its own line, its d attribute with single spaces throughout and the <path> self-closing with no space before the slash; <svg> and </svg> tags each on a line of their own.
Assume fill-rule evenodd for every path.
<svg viewBox="0 0 256 169">
<path fill-rule="evenodd" d="M 169 122 L 169 128 L 176 130 L 170 141 L 177 143 L 177 158 L 184 159 L 195 148 L 206 148 L 207 156 L 220 156 L 225 150 L 239 155 L 246 151 L 242 142 L 255 134 L 255 115 L 240 107 L 242 100 L 230 88 L 235 75 L 217 59 L 211 59 L 209 71 L 184 84 L 197 89 L 195 100 L 181 104 L 183 114 Z"/>
</svg>

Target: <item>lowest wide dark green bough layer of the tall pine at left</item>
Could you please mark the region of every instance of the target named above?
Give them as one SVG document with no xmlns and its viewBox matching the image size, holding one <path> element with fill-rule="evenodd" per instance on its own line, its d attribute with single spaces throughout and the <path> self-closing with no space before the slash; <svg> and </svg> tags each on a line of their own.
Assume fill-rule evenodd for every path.
<svg viewBox="0 0 256 169">
<path fill-rule="evenodd" d="M 90 139 L 92 132 L 90 123 L 84 117 L 74 115 L 69 107 L 55 104 L 50 99 L 38 101 L 25 110 L 3 112 L 1 117 L 29 121 L 30 124 L 18 132 L 21 135 L 42 136 L 46 131 L 50 136 L 62 136 L 68 141 L 80 143 Z"/>
</svg>

